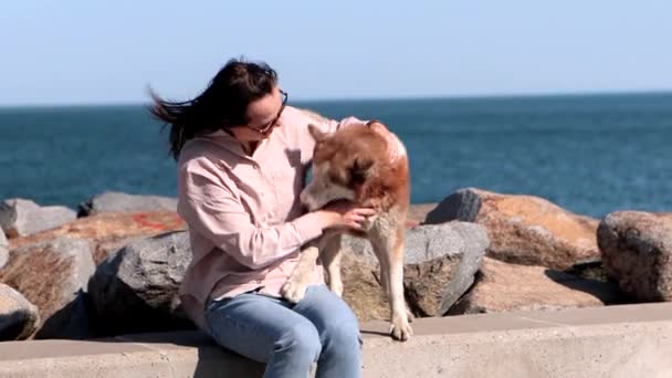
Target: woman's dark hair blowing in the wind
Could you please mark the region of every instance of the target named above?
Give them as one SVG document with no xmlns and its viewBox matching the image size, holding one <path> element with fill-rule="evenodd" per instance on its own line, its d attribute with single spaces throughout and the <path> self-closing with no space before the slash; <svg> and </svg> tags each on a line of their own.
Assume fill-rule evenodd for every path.
<svg viewBox="0 0 672 378">
<path fill-rule="evenodd" d="M 185 143 L 197 134 L 246 124 L 248 105 L 270 94 L 275 85 L 277 73 L 267 64 L 233 59 L 193 99 L 169 102 L 150 90 L 149 112 L 170 125 L 170 155 L 177 160 Z"/>
</svg>

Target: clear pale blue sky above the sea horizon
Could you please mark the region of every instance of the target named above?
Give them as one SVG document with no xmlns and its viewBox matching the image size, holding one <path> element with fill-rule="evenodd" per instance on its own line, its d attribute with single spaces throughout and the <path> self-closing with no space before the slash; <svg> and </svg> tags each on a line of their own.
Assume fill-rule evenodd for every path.
<svg viewBox="0 0 672 378">
<path fill-rule="evenodd" d="M 672 90 L 672 1 L 17 0 L 0 105 L 196 95 L 232 56 L 293 98 Z"/>
</svg>

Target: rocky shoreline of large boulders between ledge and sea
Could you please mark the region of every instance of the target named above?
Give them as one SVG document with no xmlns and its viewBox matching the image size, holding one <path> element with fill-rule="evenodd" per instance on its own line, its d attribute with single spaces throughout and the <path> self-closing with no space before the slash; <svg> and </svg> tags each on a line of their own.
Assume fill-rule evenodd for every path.
<svg viewBox="0 0 672 378">
<path fill-rule="evenodd" d="M 0 340 L 192 328 L 177 201 L 105 192 L 78 209 L 0 202 Z M 419 317 L 672 300 L 672 213 L 594 219 L 543 198 L 465 188 L 409 213 L 405 290 Z M 367 242 L 346 238 L 344 297 L 388 306 Z"/>
</svg>

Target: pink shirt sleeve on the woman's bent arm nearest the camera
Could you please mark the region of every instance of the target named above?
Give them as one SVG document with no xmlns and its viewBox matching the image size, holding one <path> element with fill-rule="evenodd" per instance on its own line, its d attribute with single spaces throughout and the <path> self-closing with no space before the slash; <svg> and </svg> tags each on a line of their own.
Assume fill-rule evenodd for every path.
<svg viewBox="0 0 672 378">
<path fill-rule="evenodd" d="M 315 213 L 272 227 L 255 225 L 234 191 L 212 170 L 217 168 L 204 168 L 180 167 L 178 212 L 191 230 L 241 264 L 264 267 L 322 234 Z"/>
</svg>

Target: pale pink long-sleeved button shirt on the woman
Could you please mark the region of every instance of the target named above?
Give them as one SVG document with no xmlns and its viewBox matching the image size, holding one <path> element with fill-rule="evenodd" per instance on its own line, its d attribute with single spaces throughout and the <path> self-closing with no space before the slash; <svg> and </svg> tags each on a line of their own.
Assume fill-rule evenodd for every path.
<svg viewBox="0 0 672 378">
<path fill-rule="evenodd" d="M 178 161 L 178 212 L 189 225 L 193 258 L 180 286 L 187 314 L 204 329 L 209 297 L 252 290 L 280 295 L 303 244 L 319 237 L 298 195 L 315 145 L 307 125 L 334 132 L 340 123 L 287 106 L 280 126 L 252 156 L 224 132 L 187 141 Z M 312 282 L 322 283 L 322 267 Z"/>
</svg>

